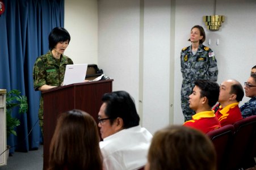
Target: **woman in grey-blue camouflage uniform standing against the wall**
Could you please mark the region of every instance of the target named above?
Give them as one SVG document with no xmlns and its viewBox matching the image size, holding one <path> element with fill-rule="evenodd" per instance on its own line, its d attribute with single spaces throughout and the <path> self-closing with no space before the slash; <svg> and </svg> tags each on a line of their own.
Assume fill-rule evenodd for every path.
<svg viewBox="0 0 256 170">
<path fill-rule="evenodd" d="M 204 28 L 195 25 L 191 28 L 190 39 L 191 45 L 182 49 L 181 52 L 181 107 L 185 121 L 191 120 L 195 114 L 189 107 L 188 96 L 192 93 L 196 79 L 207 79 L 217 81 L 218 68 L 215 54 L 213 51 L 203 45 L 205 41 Z"/>
</svg>

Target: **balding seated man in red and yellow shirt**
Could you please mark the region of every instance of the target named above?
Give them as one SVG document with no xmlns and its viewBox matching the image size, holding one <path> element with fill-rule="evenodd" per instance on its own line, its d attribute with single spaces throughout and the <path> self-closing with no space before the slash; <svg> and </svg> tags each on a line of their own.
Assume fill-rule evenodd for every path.
<svg viewBox="0 0 256 170">
<path fill-rule="evenodd" d="M 234 122 L 242 119 L 238 104 L 243 97 L 243 87 L 237 80 L 225 80 L 221 83 L 219 95 L 221 105 L 215 113 L 221 126 L 234 124 Z"/>
</svg>

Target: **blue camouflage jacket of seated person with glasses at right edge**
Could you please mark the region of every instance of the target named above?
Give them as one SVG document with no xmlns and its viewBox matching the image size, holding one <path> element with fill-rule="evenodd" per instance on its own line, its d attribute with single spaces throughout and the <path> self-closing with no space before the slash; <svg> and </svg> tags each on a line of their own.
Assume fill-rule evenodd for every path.
<svg viewBox="0 0 256 170">
<path fill-rule="evenodd" d="M 256 115 L 256 96 L 242 105 L 240 111 L 243 118 Z"/>
</svg>

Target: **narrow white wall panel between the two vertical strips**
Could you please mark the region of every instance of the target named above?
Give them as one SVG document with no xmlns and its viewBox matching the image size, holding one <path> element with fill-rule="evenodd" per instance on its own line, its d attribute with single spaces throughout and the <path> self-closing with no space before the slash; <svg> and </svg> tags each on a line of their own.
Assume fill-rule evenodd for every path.
<svg viewBox="0 0 256 170">
<path fill-rule="evenodd" d="M 144 3 L 142 126 L 154 133 L 169 124 L 170 1 Z"/>
</svg>

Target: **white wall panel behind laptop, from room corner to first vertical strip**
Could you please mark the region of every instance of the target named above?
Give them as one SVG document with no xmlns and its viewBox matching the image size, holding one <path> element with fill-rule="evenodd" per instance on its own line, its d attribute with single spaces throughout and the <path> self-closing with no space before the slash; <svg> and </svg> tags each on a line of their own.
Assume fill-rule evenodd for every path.
<svg viewBox="0 0 256 170">
<path fill-rule="evenodd" d="M 113 91 L 128 91 L 138 106 L 139 1 L 98 1 L 99 66 L 114 79 Z"/>
</svg>

